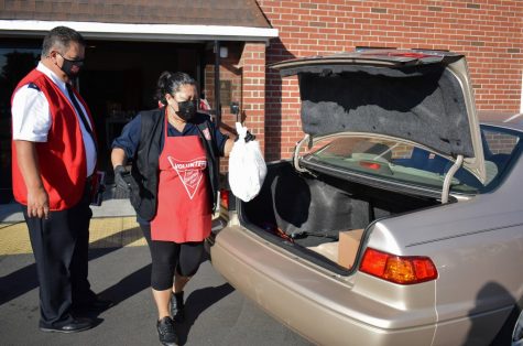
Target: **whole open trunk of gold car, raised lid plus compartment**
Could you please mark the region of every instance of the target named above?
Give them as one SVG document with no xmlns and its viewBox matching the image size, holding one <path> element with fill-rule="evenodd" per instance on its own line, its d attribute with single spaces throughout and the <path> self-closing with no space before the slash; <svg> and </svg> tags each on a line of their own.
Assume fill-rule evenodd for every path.
<svg viewBox="0 0 523 346">
<path fill-rule="evenodd" d="M 461 166 L 480 183 L 487 181 L 465 56 L 440 51 L 363 50 L 283 61 L 271 67 L 282 77 L 297 76 L 306 137 L 296 147 L 294 166 L 286 162 L 269 165 L 260 195 L 240 206 L 242 225 L 268 240 L 320 266 L 347 272 L 357 260 L 360 239 L 366 239 L 362 229 L 374 220 L 447 203 L 454 174 Z M 433 156 L 438 154 L 453 165 L 442 171 L 402 166 L 397 160 L 403 159 L 403 143 L 383 151 L 391 152 L 391 160 L 384 162 L 377 159 L 381 154 L 373 154 L 377 158 L 370 161 L 356 159 L 356 153 L 368 152 L 356 145 L 348 150 L 349 143 L 340 143 L 340 148 L 335 144 L 325 155 L 318 150 L 299 156 L 305 143 L 310 150 L 317 141 L 345 132 L 369 139 L 386 137 L 396 143 L 407 141 L 412 143 L 408 145 L 425 148 L 431 158 L 427 162 L 436 161 Z M 392 152 L 393 148 L 397 152 Z M 302 170 L 299 160 L 316 164 L 317 170 Z M 421 159 L 412 161 L 420 163 L 416 160 Z M 340 167 L 339 177 L 318 172 L 327 166 Z M 353 173 L 361 167 L 375 172 L 356 180 Z M 407 175 L 414 177 L 413 184 L 422 179 L 439 184 L 440 173 L 440 201 L 412 186 L 394 187 L 405 186 Z M 380 179 L 390 184 L 377 184 Z"/>
</svg>

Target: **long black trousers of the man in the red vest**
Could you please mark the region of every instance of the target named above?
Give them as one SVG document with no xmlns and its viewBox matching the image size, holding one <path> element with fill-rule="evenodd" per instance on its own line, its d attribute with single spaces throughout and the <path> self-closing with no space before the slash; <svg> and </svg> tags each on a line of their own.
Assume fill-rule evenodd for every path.
<svg viewBox="0 0 523 346">
<path fill-rule="evenodd" d="M 69 323 L 73 304 L 85 304 L 95 298 L 88 275 L 89 188 L 74 207 L 50 212 L 48 218 L 23 215 L 29 228 L 40 282 L 41 326 Z"/>
</svg>

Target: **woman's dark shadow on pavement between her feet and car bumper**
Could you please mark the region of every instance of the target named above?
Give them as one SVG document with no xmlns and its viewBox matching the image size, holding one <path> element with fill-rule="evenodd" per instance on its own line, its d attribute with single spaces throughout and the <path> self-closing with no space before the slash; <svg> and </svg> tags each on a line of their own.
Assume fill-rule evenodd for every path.
<svg viewBox="0 0 523 346">
<path fill-rule="evenodd" d="M 205 288 L 193 291 L 193 293 L 190 293 L 185 301 L 185 322 L 176 324 L 178 345 L 185 345 L 187 343 L 187 336 L 189 334 L 190 327 L 206 309 L 214 305 L 216 302 L 220 301 L 233 291 L 235 289 L 228 283 L 224 283 L 216 288 Z"/>
</svg>

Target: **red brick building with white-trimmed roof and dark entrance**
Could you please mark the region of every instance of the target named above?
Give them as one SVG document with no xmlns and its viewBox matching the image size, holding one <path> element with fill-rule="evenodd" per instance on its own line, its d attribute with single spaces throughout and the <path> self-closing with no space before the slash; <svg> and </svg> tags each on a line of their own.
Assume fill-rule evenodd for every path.
<svg viewBox="0 0 523 346">
<path fill-rule="evenodd" d="M 356 46 L 464 53 L 479 110 L 523 111 L 520 0 L 0 0 L 2 181 L 10 137 L 6 95 L 13 83 L 7 56 L 36 52 L 45 31 L 58 24 L 89 42 L 79 87 L 107 142 L 119 121 L 112 116 L 150 106 L 159 72 L 179 69 L 195 76 L 226 129 L 236 120 L 229 106 L 239 102 L 266 159 L 288 158 L 302 136 L 297 83 L 268 64 Z"/>
</svg>

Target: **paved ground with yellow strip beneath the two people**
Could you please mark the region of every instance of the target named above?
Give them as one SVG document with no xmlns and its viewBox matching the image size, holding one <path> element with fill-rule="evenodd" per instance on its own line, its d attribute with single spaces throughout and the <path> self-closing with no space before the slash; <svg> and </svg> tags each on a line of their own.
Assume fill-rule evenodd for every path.
<svg viewBox="0 0 523 346">
<path fill-rule="evenodd" d="M 151 258 L 127 199 L 95 210 L 89 280 L 116 305 L 77 334 L 37 329 L 39 289 L 28 231 L 15 206 L 0 205 L 0 335 L 2 345 L 160 345 L 150 291 Z M 111 209 L 115 207 L 115 209 Z M 131 215 L 129 215 L 131 214 Z M 205 259 L 186 288 L 179 345 L 310 345 L 229 285 Z M 310 316 L 314 318 L 314 316 Z"/>
</svg>

